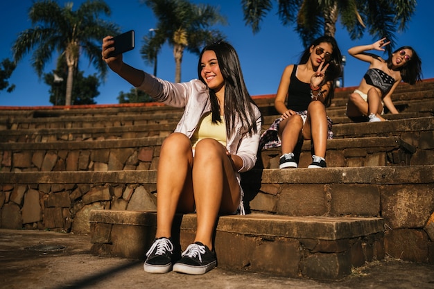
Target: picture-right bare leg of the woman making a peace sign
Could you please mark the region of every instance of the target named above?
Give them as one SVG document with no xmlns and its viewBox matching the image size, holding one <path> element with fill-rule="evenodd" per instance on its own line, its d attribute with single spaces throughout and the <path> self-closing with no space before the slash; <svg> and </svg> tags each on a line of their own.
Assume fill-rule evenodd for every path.
<svg viewBox="0 0 434 289">
<path fill-rule="evenodd" d="M 315 155 L 324 157 L 327 148 L 327 114 L 320 101 L 312 101 L 307 108 L 307 119 L 304 123 L 304 139 L 312 139 Z"/>
</svg>

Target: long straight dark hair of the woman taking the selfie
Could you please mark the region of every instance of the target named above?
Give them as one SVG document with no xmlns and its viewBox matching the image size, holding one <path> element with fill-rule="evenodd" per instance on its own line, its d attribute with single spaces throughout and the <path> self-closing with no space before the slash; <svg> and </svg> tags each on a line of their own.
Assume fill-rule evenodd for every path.
<svg viewBox="0 0 434 289">
<path fill-rule="evenodd" d="M 205 51 L 214 51 L 216 53 L 218 67 L 225 80 L 225 123 L 227 135 L 230 136 L 234 133 L 233 128 L 236 116 L 239 116 L 243 128 L 246 128 L 249 133 L 256 133 L 257 120 L 254 117 L 254 109 L 250 103 L 256 104 L 250 97 L 247 87 L 245 87 L 240 61 L 234 47 L 227 42 L 218 41 L 202 49 L 199 55 L 198 78 L 206 85 L 205 80 L 201 76 L 201 60 Z M 209 89 L 209 96 L 211 98 L 212 122 L 220 122 L 220 105 L 218 105 L 218 98 L 213 89 Z"/>
</svg>

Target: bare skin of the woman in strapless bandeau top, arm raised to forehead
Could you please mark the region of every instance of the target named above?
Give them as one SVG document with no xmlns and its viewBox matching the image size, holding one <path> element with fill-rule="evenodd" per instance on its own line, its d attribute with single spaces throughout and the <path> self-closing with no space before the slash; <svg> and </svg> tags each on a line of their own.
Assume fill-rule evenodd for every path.
<svg viewBox="0 0 434 289">
<path fill-rule="evenodd" d="M 388 93 L 383 95 L 380 89 L 372 85 L 368 85 L 366 80 L 363 78 L 358 90 L 367 94 L 367 101 L 365 101 L 357 93 L 351 94 L 347 103 L 347 116 L 368 116 L 370 114 L 375 114 L 379 119 L 381 119 L 381 121 L 385 121 L 385 119 L 381 116 L 381 112 L 383 112 L 383 104 L 381 102 L 388 107 L 390 113 L 399 113 L 397 108 L 392 103 L 392 98 L 390 96 L 392 95 L 394 89 L 399 85 L 399 82 L 401 82 L 401 73 L 398 69 L 406 65 L 408 61 L 411 61 L 413 51 L 411 51 L 411 49 L 403 49 L 403 51 L 405 51 L 404 55 L 400 55 L 400 51 L 393 53 L 392 66 L 390 68 L 388 67 L 387 62 L 382 58 L 370 53 L 364 53 L 364 51 L 369 50 L 385 51 L 384 47 L 388 44 L 390 44 L 390 42 L 386 42 L 385 38 L 383 38 L 371 45 L 355 46 L 348 50 L 348 53 L 355 58 L 369 62 L 369 69 L 380 69 L 392 76 L 395 82 Z"/>
</svg>

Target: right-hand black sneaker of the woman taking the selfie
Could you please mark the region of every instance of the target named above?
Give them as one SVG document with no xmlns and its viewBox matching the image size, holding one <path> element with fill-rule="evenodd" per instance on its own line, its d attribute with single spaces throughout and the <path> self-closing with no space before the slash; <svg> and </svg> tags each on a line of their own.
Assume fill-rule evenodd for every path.
<svg viewBox="0 0 434 289">
<path fill-rule="evenodd" d="M 193 243 L 182 253 L 180 261 L 173 265 L 173 271 L 184 274 L 205 274 L 217 265 L 216 253 L 200 242 Z"/>
</svg>

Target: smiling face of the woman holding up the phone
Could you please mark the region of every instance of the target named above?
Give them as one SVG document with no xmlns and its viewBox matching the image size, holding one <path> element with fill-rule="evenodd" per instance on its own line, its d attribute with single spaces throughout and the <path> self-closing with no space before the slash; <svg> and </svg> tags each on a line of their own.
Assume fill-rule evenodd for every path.
<svg viewBox="0 0 434 289">
<path fill-rule="evenodd" d="M 200 76 L 210 89 L 214 89 L 217 93 L 220 89 L 225 87 L 225 79 L 218 66 L 217 56 L 214 51 L 207 50 L 202 54 L 200 66 L 202 67 Z"/>
</svg>

